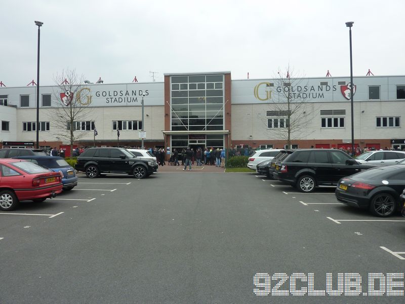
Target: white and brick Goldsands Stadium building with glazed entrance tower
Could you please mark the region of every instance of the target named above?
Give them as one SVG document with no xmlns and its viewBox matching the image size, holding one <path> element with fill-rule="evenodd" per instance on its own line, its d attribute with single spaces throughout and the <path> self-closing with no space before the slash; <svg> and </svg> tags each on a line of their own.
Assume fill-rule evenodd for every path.
<svg viewBox="0 0 405 304">
<path fill-rule="evenodd" d="M 353 83 L 355 146 L 405 148 L 405 76 L 354 77 Z M 350 77 L 231 80 L 225 71 L 80 87 L 87 93 L 80 100 L 87 114 L 74 122 L 74 132 L 85 135 L 75 146 L 117 146 L 118 139 L 120 146 L 140 146 L 142 98 L 146 148 L 283 148 L 294 122 L 293 148 L 351 146 Z M 58 86 L 39 88 L 36 126 L 36 89 L 0 87 L 0 146 L 34 147 L 38 128 L 39 146 L 69 150 L 69 142 L 58 136 L 61 130 L 56 132 L 66 121 L 55 115 L 56 107 L 65 106 L 63 92 Z M 285 96 L 291 98 L 290 108 Z M 62 131 L 70 132 L 65 125 Z"/>
</svg>

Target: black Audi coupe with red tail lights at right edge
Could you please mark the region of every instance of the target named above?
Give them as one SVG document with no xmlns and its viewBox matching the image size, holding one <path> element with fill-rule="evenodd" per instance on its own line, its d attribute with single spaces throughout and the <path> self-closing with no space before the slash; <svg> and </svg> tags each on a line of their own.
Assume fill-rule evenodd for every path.
<svg viewBox="0 0 405 304">
<path fill-rule="evenodd" d="M 369 208 L 382 217 L 401 210 L 405 165 L 376 167 L 339 180 L 336 199 L 349 206 Z"/>
</svg>

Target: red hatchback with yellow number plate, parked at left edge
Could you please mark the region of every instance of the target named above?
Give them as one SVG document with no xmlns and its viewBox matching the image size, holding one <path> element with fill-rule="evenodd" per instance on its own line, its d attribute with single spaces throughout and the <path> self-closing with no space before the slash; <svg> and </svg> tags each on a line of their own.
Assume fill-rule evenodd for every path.
<svg viewBox="0 0 405 304">
<path fill-rule="evenodd" d="M 20 201 L 43 202 L 62 192 L 62 176 L 31 162 L 0 159 L 0 210 L 14 210 Z"/>
</svg>

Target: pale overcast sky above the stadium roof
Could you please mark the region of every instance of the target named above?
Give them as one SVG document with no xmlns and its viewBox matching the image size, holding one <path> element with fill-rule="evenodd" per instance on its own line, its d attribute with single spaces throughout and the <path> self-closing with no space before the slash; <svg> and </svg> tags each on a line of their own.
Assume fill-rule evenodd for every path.
<svg viewBox="0 0 405 304">
<path fill-rule="evenodd" d="M 231 71 L 272 78 L 290 66 L 306 77 L 405 74 L 405 1 L 17 1 L 0 2 L 0 81 L 41 85 L 76 69 L 104 83 L 163 82 L 164 73 Z"/>
</svg>

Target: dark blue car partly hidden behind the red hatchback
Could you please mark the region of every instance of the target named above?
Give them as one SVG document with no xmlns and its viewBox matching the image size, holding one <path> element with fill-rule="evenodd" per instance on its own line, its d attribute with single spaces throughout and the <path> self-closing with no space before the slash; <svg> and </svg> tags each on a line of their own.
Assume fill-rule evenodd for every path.
<svg viewBox="0 0 405 304">
<path fill-rule="evenodd" d="M 63 173 L 62 184 L 64 190 L 71 190 L 77 185 L 76 172 L 62 157 L 59 156 L 19 156 L 21 160 L 30 160 L 31 163 L 45 167 L 52 171 Z"/>
</svg>

